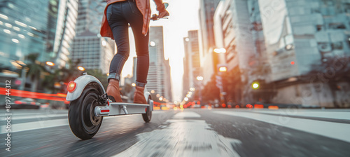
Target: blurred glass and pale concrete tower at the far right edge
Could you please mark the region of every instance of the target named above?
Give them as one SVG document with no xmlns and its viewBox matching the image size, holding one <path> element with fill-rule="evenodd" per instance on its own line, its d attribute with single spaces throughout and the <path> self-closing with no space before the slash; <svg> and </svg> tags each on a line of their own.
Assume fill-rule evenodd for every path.
<svg viewBox="0 0 350 157">
<path fill-rule="evenodd" d="M 321 107 L 349 104 L 344 98 L 349 97 L 349 83 L 329 83 L 341 64 L 337 59 L 350 56 L 349 1 L 259 0 L 259 6 L 271 67 L 267 82 L 276 84 L 273 101 Z M 334 61 L 325 67 L 330 60 Z M 308 78 L 318 67 L 332 75 L 319 71 Z"/>
</svg>

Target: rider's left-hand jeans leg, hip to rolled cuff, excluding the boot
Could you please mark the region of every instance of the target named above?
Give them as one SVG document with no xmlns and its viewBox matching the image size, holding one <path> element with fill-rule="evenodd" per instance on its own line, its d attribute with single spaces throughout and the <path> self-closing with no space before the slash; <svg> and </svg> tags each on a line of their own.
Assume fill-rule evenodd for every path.
<svg viewBox="0 0 350 157">
<path fill-rule="evenodd" d="M 129 27 L 127 20 L 123 17 L 122 4 L 111 4 L 109 8 L 110 7 L 112 15 L 111 18 L 108 19 L 108 22 L 112 29 L 114 40 L 116 41 L 117 54 L 114 55 L 111 60 L 108 79 L 114 78 L 120 80 L 121 71 L 130 54 Z M 107 13 L 109 8 L 107 8 Z"/>
</svg>

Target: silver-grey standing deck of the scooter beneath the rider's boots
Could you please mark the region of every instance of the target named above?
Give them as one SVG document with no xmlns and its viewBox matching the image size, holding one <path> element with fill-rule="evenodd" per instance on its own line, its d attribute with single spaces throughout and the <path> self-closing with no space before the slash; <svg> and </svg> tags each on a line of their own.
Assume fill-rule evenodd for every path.
<svg viewBox="0 0 350 157">
<path fill-rule="evenodd" d="M 150 104 L 134 104 L 125 102 L 109 102 L 106 106 L 97 106 L 95 116 L 119 116 L 127 114 L 146 114 L 147 107 L 153 111 L 153 100 Z"/>
</svg>

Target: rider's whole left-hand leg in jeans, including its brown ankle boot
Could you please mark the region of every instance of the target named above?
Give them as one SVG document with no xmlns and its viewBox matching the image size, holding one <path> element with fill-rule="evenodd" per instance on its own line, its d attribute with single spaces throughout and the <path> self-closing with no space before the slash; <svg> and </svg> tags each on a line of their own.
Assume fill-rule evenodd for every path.
<svg viewBox="0 0 350 157">
<path fill-rule="evenodd" d="M 120 97 L 119 80 L 120 73 L 130 52 L 129 28 L 127 20 L 123 17 L 123 3 L 124 2 L 111 4 L 109 8 L 107 8 L 107 20 L 113 32 L 113 37 L 118 49 L 118 52 L 114 55 L 109 67 L 109 86 L 106 91 L 107 95 L 109 95 L 109 99 L 113 102 L 123 102 Z"/>
</svg>

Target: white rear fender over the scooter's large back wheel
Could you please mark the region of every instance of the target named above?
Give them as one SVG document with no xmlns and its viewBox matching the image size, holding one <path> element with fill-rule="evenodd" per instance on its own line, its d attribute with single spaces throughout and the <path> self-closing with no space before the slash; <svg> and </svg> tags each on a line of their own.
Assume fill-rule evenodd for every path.
<svg viewBox="0 0 350 157">
<path fill-rule="evenodd" d="M 76 89 L 72 93 L 68 92 L 66 95 L 66 100 L 69 102 L 78 99 L 81 93 L 83 93 L 84 88 L 89 83 L 93 83 L 93 82 L 99 83 L 99 86 L 101 86 L 103 92 L 106 93 L 106 91 L 104 90 L 104 86 L 102 86 L 102 83 L 94 76 L 87 75 L 87 74 L 83 76 L 79 76 L 78 78 L 76 78 L 76 80 L 74 80 L 74 82 L 76 83 Z"/>
</svg>

